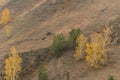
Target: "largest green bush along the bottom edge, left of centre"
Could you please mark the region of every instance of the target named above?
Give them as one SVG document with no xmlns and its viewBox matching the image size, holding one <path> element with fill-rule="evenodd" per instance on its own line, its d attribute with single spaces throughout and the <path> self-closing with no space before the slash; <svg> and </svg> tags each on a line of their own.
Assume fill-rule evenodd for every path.
<svg viewBox="0 0 120 80">
<path fill-rule="evenodd" d="M 44 70 L 43 63 L 40 63 L 40 65 L 39 65 L 39 80 L 49 80 L 48 75 L 46 74 L 46 72 Z"/>
</svg>

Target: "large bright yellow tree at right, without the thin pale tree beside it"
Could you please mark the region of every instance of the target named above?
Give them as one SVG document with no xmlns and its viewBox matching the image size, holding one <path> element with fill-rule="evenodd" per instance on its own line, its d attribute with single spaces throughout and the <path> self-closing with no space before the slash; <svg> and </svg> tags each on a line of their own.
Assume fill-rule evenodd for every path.
<svg viewBox="0 0 120 80">
<path fill-rule="evenodd" d="M 86 61 L 93 68 L 100 68 L 107 61 L 107 54 L 103 48 L 103 37 L 95 33 L 91 36 L 91 42 L 86 44 Z"/>
</svg>

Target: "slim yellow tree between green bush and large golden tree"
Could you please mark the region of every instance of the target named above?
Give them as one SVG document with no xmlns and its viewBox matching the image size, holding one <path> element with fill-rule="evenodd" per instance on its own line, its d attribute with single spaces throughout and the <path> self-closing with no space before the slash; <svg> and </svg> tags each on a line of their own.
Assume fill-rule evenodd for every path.
<svg viewBox="0 0 120 80">
<path fill-rule="evenodd" d="M 74 57 L 76 60 L 80 60 L 83 59 L 85 56 L 85 44 L 86 44 L 86 37 L 83 34 L 80 34 L 77 37 L 76 43 L 78 44 L 78 46 L 75 49 L 75 53 L 74 53 Z"/>
</svg>

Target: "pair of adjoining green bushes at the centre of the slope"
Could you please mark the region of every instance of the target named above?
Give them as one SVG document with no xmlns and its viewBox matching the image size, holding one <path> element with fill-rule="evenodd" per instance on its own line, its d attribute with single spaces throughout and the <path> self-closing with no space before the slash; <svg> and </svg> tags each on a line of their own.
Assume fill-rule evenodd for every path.
<svg viewBox="0 0 120 80">
<path fill-rule="evenodd" d="M 72 29 L 69 32 L 68 39 L 63 34 L 54 37 L 53 44 L 50 46 L 50 53 L 55 57 L 60 57 L 63 51 L 77 46 L 76 39 L 80 35 L 80 29 Z"/>
</svg>

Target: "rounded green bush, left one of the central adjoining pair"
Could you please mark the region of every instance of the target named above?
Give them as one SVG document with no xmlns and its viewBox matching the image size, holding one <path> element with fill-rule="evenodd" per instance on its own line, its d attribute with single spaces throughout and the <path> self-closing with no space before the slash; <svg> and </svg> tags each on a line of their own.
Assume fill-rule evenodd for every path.
<svg viewBox="0 0 120 80">
<path fill-rule="evenodd" d="M 50 53 L 52 56 L 60 57 L 62 55 L 62 51 L 67 47 L 66 39 L 63 34 L 54 37 L 53 43 L 50 46 Z"/>
</svg>

